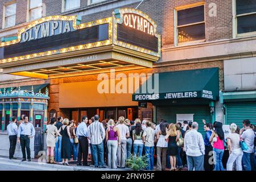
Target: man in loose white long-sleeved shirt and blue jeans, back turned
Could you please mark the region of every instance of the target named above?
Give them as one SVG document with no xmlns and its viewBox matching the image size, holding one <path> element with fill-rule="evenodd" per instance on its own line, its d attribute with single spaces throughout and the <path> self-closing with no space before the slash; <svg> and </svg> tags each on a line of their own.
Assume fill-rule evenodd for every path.
<svg viewBox="0 0 256 182">
<path fill-rule="evenodd" d="M 205 146 L 202 134 L 198 131 L 198 123 L 192 123 L 192 129 L 184 138 L 184 150 L 187 154 L 188 170 L 203 171 Z"/>
</svg>

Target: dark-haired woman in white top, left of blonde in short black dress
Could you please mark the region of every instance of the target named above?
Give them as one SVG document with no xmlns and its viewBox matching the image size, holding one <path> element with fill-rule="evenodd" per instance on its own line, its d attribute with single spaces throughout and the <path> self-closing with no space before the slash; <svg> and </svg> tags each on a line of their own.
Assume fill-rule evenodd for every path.
<svg viewBox="0 0 256 182">
<path fill-rule="evenodd" d="M 165 139 L 167 134 L 167 125 L 168 123 L 160 123 L 160 130 L 156 132 L 156 155 L 157 155 L 157 164 L 156 170 L 165 171 L 166 169 L 166 152 L 168 147 L 168 142 Z M 161 164 L 161 154 L 162 154 L 162 164 Z"/>
</svg>

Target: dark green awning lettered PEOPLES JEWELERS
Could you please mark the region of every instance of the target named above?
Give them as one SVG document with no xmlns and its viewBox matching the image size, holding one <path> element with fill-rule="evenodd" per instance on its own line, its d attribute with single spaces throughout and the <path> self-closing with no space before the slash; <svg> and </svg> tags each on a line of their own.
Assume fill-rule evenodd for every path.
<svg viewBox="0 0 256 182">
<path fill-rule="evenodd" d="M 133 101 L 184 98 L 218 100 L 218 94 L 218 68 L 193 69 L 154 73 L 133 94 Z"/>
</svg>

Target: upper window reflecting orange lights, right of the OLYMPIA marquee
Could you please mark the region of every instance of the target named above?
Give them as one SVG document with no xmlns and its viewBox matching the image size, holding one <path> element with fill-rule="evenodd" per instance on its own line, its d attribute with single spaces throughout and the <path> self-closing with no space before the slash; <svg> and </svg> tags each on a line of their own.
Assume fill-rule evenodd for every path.
<svg viewBox="0 0 256 182">
<path fill-rule="evenodd" d="M 175 22 L 175 46 L 205 41 L 204 5 L 176 8 Z"/>
</svg>

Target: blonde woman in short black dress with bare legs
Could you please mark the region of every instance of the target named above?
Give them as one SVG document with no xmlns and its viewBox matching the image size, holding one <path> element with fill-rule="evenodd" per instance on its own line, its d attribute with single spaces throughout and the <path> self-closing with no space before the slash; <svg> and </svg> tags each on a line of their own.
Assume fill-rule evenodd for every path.
<svg viewBox="0 0 256 182">
<path fill-rule="evenodd" d="M 168 139 L 167 155 L 170 156 L 171 169 L 176 170 L 176 155 L 178 153 L 177 141 L 180 137 L 180 131 L 176 130 L 176 125 L 171 123 L 168 127 L 166 139 Z"/>
</svg>

